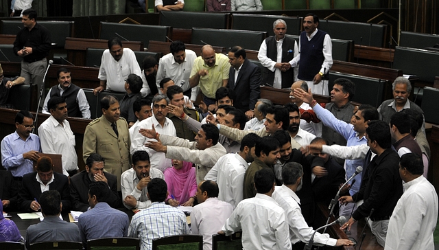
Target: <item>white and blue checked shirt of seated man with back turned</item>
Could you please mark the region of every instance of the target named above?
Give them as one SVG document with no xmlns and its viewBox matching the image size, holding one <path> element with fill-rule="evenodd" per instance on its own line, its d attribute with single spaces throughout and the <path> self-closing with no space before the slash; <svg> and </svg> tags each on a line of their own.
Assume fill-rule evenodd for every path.
<svg viewBox="0 0 439 250">
<path fill-rule="evenodd" d="M 164 202 L 153 202 L 135 214 L 128 228 L 128 237 L 141 239 L 141 250 L 152 249 L 153 239 L 179 234 L 190 234 L 185 213 Z"/>
</svg>

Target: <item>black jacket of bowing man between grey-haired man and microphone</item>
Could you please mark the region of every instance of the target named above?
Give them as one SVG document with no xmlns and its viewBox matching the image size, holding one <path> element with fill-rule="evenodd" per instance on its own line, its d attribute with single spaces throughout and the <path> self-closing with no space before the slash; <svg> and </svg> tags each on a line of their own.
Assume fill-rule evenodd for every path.
<svg viewBox="0 0 439 250">
<path fill-rule="evenodd" d="M 314 179 L 312 183 L 312 190 L 316 202 L 324 203 L 329 206 L 331 200 L 337 194 L 340 184 L 343 184 L 346 179 L 346 172 L 337 161 L 330 158 L 327 163 L 324 163 L 324 168 L 327 169 L 328 175 L 325 177 Z"/>
</svg>

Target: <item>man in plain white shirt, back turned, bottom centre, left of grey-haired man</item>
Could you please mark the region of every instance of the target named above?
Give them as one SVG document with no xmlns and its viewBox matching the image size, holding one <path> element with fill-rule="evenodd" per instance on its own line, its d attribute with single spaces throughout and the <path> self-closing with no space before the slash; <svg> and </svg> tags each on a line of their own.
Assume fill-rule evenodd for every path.
<svg viewBox="0 0 439 250">
<path fill-rule="evenodd" d="M 241 201 L 218 234 L 230 236 L 242 230 L 244 249 L 292 249 L 285 211 L 271 197 L 275 182 L 272 170 L 257 171 L 254 174 L 256 196 Z"/>
</svg>

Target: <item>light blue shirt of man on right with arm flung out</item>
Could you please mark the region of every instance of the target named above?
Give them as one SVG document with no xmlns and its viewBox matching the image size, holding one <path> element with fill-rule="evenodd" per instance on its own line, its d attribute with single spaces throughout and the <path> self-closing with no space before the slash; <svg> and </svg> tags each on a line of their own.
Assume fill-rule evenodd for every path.
<svg viewBox="0 0 439 250">
<path fill-rule="evenodd" d="M 346 146 L 357 146 L 362 144 L 367 144 L 367 139 L 365 136 L 359 138 L 358 133 L 355 132 L 354 126 L 352 124 L 348 124 L 342 120 L 338 120 L 335 118 L 333 113 L 327 109 L 323 109 L 322 106 L 319 104 L 316 104 L 316 106 L 313 107 L 314 113 L 316 113 L 318 119 L 323 122 L 324 126 L 328 126 L 329 128 L 332 128 L 333 130 L 337 131 L 340 135 L 346 139 Z M 356 160 L 348 160 L 346 159 L 344 161 L 344 170 L 346 170 L 346 180 L 351 178 L 351 176 L 355 173 L 355 170 L 358 166 L 362 166 L 365 168 L 366 166 L 363 166 L 364 159 L 356 159 Z M 351 195 L 355 194 L 359 191 L 359 187 L 361 184 L 361 177 L 363 176 L 363 173 L 357 174 L 357 176 L 354 178 L 356 181 L 354 185 L 352 186 L 351 190 L 349 190 L 349 193 Z M 352 183 L 352 181 L 351 181 Z"/>
</svg>

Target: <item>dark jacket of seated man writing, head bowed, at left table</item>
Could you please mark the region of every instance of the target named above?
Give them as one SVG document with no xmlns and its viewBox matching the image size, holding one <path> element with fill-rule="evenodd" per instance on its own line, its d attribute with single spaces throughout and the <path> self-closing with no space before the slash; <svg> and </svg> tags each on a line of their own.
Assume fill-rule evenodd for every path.
<svg viewBox="0 0 439 250">
<path fill-rule="evenodd" d="M 64 174 L 54 172 L 54 182 L 49 184 L 49 190 L 58 190 L 61 195 L 62 211 L 70 211 L 69 179 Z M 36 172 L 23 176 L 23 186 L 19 191 L 19 209 L 26 212 L 34 212 L 30 203 L 41 195 L 40 183 L 36 181 Z"/>
</svg>

